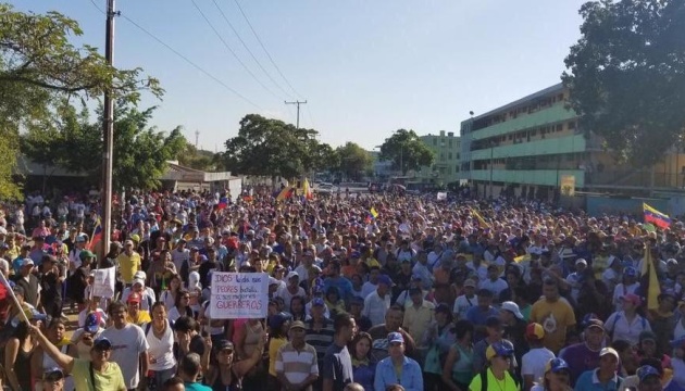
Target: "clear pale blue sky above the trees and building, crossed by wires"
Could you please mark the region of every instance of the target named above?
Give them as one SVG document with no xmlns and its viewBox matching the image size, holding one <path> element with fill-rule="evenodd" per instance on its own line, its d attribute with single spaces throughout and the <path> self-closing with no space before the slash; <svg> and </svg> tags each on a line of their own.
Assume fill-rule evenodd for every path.
<svg viewBox="0 0 685 391">
<path fill-rule="evenodd" d="M 169 43 L 257 106 L 202 74 L 123 17 L 114 62 L 158 77 L 166 94 L 154 125 L 177 125 L 201 147 L 223 149 L 248 113 L 295 123 L 333 146 L 378 146 L 398 128 L 419 135 L 459 133 L 459 124 L 559 83 L 580 37 L 582 0 L 237 0 L 288 78 L 275 71 L 234 0 L 215 0 L 284 93 L 257 65 L 212 0 L 195 0 L 226 43 L 273 93 L 228 52 L 190 0 L 117 0 L 122 14 Z M 60 11 L 84 29 L 78 41 L 104 48 L 107 0 L 10 0 L 17 9 Z"/>
</svg>

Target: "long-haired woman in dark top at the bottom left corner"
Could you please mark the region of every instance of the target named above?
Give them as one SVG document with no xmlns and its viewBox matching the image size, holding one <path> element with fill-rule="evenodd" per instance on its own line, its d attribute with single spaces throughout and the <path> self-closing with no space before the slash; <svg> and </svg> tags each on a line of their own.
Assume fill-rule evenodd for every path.
<svg viewBox="0 0 685 391">
<path fill-rule="evenodd" d="M 4 371 L 12 390 L 32 390 L 30 355 L 36 343 L 28 324 L 20 321 L 4 345 Z"/>
</svg>

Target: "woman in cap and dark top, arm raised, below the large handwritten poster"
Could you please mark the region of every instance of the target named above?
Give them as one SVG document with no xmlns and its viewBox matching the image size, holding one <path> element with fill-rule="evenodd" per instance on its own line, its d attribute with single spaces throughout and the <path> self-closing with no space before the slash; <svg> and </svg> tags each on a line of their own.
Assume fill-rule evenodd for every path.
<svg viewBox="0 0 685 391">
<path fill-rule="evenodd" d="M 213 354 L 212 354 L 212 348 Z M 202 355 L 202 373 L 204 383 L 213 391 L 239 391 L 242 378 L 262 358 L 264 340 L 260 342 L 252 355 L 245 360 L 237 360 L 233 342 L 222 339 L 212 346 L 212 339 L 204 339 L 204 354 Z"/>
</svg>

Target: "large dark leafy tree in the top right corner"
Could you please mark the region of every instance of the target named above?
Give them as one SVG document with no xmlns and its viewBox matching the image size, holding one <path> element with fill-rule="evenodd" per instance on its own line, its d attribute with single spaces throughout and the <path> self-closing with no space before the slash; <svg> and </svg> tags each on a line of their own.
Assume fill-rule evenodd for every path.
<svg viewBox="0 0 685 391">
<path fill-rule="evenodd" d="M 562 75 L 581 129 L 622 160 L 651 166 L 685 130 L 685 2 L 585 3 Z"/>
</svg>

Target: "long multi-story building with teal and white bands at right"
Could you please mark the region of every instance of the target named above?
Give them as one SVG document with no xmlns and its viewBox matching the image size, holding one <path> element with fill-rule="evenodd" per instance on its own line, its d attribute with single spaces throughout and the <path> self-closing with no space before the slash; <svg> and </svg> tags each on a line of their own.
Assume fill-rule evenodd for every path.
<svg viewBox="0 0 685 391">
<path fill-rule="evenodd" d="M 683 188 L 685 155 L 664 151 L 664 161 L 646 169 L 619 164 L 599 137 L 580 128 L 566 98 L 558 84 L 463 121 L 460 177 L 486 198 L 551 199 L 569 177 L 576 190 L 595 192 Z"/>
</svg>

